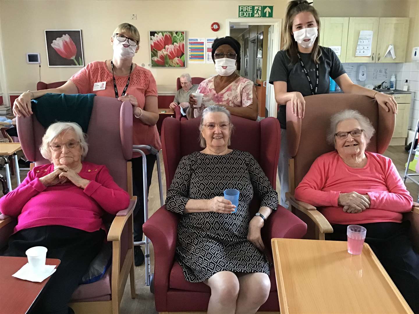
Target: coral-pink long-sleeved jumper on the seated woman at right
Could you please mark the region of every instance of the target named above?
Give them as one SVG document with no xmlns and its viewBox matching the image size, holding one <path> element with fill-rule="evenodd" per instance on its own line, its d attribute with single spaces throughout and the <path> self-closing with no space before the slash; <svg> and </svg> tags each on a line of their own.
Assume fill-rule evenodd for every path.
<svg viewBox="0 0 419 314">
<path fill-rule="evenodd" d="M 390 158 L 365 152 L 367 165 L 349 167 L 339 154 L 318 157 L 295 189 L 295 198 L 319 208 L 331 224 L 401 222 L 402 213 L 411 211 L 413 198 Z M 358 214 L 346 213 L 338 205 L 340 193 L 368 194 L 371 205 Z"/>
</svg>

